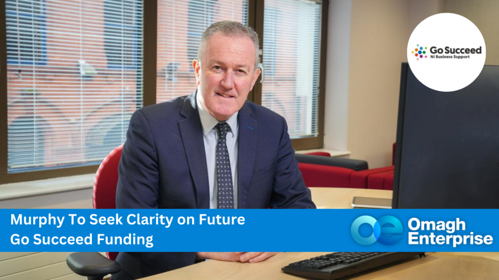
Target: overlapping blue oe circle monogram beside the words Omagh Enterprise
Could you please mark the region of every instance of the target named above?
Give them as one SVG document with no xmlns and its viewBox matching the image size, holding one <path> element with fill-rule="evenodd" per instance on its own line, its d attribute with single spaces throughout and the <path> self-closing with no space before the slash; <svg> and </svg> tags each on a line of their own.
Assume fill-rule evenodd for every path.
<svg viewBox="0 0 499 280">
<path fill-rule="evenodd" d="M 359 234 L 359 227 L 362 224 L 369 224 L 373 227 L 371 236 L 362 237 Z M 384 227 L 386 224 L 391 224 L 393 227 Z M 353 221 L 351 228 L 353 240 L 360 245 L 371 245 L 376 241 L 384 245 L 393 245 L 402 238 L 403 232 L 402 223 L 393 216 L 383 216 L 378 220 L 371 216 L 360 216 Z M 388 234 L 389 237 L 384 234 Z"/>
</svg>

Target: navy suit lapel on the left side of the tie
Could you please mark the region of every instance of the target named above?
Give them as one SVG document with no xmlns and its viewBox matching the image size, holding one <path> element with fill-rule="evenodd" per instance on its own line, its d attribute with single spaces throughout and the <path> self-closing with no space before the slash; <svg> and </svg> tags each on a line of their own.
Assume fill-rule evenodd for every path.
<svg viewBox="0 0 499 280">
<path fill-rule="evenodd" d="M 210 208 L 210 185 L 206 165 L 203 127 L 196 106 L 196 92 L 184 101 L 180 112 L 185 117 L 179 121 L 180 135 L 187 155 L 191 176 L 196 186 L 198 208 Z"/>
</svg>

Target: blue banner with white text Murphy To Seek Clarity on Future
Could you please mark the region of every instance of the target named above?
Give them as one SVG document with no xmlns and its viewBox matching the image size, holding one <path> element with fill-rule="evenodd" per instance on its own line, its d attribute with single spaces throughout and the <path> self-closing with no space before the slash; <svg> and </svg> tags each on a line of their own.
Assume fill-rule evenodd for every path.
<svg viewBox="0 0 499 280">
<path fill-rule="evenodd" d="M 0 251 L 497 252 L 497 216 L 498 209 L 0 209 Z"/>
</svg>

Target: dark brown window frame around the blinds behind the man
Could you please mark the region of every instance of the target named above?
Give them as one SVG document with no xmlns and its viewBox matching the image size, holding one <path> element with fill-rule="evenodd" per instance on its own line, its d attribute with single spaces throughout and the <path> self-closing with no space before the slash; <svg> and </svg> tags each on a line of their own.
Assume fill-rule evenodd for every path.
<svg viewBox="0 0 499 280">
<path fill-rule="evenodd" d="M 44 1 L 45 2 L 45 1 Z M 156 45 L 157 45 L 157 0 L 143 1 L 143 106 L 156 104 Z M 263 44 L 263 5 L 264 0 L 249 0 L 248 24 L 253 27 L 260 38 L 260 48 Z M 319 76 L 319 134 L 313 138 L 293 139 L 295 150 L 322 148 L 324 140 L 324 99 L 325 70 L 327 48 L 327 15 L 328 0 L 322 1 L 321 46 L 320 46 L 320 76 Z M 46 53 L 45 53 L 46 54 Z M 7 132 L 7 60 L 6 60 L 6 7 L 5 1 L 0 4 L 0 132 Z M 256 82 L 248 99 L 261 104 L 261 84 Z M 139 108 L 137 108 L 139 109 Z M 48 179 L 95 173 L 98 165 L 68 167 L 43 171 L 22 173 L 7 173 L 7 133 L 0 133 L 0 184 Z"/>
</svg>

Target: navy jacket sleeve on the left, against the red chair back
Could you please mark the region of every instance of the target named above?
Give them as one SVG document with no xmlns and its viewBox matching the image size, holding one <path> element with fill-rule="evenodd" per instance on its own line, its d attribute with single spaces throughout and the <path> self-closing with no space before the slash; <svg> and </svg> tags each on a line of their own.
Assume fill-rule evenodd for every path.
<svg viewBox="0 0 499 280">
<path fill-rule="evenodd" d="M 118 167 L 116 208 L 158 208 L 159 169 L 156 144 L 140 111 L 130 119 Z M 155 236 L 155 238 L 164 238 Z M 113 280 L 137 279 L 194 264 L 196 252 L 120 252 L 122 272 Z"/>
</svg>

